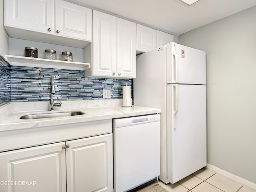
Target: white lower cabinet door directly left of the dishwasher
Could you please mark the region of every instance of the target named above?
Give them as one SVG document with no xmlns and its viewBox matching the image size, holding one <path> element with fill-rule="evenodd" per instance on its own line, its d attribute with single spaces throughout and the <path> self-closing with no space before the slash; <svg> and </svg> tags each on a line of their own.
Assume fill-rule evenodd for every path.
<svg viewBox="0 0 256 192">
<path fill-rule="evenodd" d="M 67 192 L 112 192 L 112 134 L 66 142 Z"/>
</svg>

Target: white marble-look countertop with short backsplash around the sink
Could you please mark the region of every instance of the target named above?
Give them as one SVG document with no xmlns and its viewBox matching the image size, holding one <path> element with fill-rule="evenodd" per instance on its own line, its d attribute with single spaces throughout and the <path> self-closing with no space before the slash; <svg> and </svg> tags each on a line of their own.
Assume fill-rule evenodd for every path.
<svg viewBox="0 0 256 192">
<path fill-rule="evenodd" d="M 73 124 L 80 122 L 89 122 L 96 120 L 106 120 L 112 118 L 122 118 L 129 116 L 139 116 L 146 114 L 160 113 L 160 109 L 148 108 L 143 106 L 122 107 L 121 105 L 105 106 L 111 104 L 120 104 L 120 100 L 106 101 L 66 101 L 62 102 L 62 108 L 56 108 L 54 112 L 80 111 L 85 114 L 69 117 L 54 117 L 41 119 L 20 119 L 22 115 L 38 114 L 49 112 L 48 102 L 20 102 L 11 103 L 0 109 L 0 115 L 5 114 L 5 118 L 0 119 L 0 131 L 38 128 L 44 126 L 55 126 L 62 124 Z M 117 103 L 116 103 L 117 102 Z M 38 104 L 39 103 L 39 104 Z M 106 104 L 108 103 L 108 104 Z M 44 106 L 44 107 L 38 107 Z M 89 106 L 89 107 L 88 107 Z M 25 110 L 26 109 L 26 110 Z M 10 111 L 12 110 L 12 111 Z M 7 115 L 6 115 L 7 114 Z"/>
</svg>

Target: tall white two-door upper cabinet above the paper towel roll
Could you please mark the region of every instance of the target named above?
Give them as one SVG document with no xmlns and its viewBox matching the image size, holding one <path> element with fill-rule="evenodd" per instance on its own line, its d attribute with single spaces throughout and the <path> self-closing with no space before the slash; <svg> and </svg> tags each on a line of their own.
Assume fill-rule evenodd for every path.
<svg viewBox="0 0 256 192">
<path fill-rule="evenodd" d="M 92 69 L 86 77 L 136 77 L 136 23 L 93 10 Z"/>
</svg>

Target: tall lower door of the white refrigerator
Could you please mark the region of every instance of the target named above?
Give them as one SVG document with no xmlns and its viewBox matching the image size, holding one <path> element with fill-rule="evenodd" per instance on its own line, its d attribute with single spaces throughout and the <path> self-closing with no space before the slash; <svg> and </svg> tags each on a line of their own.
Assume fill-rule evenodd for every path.
<svg viewBox="0 0 256 192">
<path fill-rule="evenodd" d="M 167 180 L 174 184 L 206 166 L 206 86 L 166 86 Z"/>
</svg>

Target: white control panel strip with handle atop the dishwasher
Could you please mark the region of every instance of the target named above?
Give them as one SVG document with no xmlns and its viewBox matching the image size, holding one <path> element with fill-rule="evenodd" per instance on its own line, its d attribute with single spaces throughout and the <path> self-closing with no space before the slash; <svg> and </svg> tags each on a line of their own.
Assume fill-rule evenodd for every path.
<svg viewBox="0 0 256 192">
<path fill-rule="evenodd" d="M 160 121 L 160 114 L 113 119 L 113 127 L 133 126 Z"/>
</svg>

